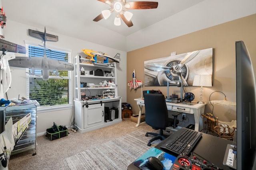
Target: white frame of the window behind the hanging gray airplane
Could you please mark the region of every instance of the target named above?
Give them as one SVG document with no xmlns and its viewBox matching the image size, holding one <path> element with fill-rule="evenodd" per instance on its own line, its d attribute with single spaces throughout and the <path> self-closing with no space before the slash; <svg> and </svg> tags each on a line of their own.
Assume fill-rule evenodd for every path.
<svg viewBox="0 0 256 170">
<path fill-rule="evenodd" d="M 40 47 L 40 46 L 43 46 L 43 44 L 38 44 L 38 43 L 34 43 L 34 42 L 30 42 L 30 41 L 25 41 L 25 44 L 26 44 L 26 50 L 27 50 L 27 53 L 26 53 L 26 57 L 29 57 L 28 55 L 28 46 L 35 46 L 35 47 Z M 42 47 L 41 47 L 42 48 Z M 56 50 L 56 51 L 63 51 L 65 53 L 68 53 L 68 63 L 71 63 L 71 50 L 69 49 L 61 49 L 61 48 L 58 48 L 58 47 L 53 47 L 53 46 L 50 46 L 50 45 L 47 45 L 46 48 L 48 49 L 52 49 L 52 50 Z M 42 78 L 41 77 L 38 77 L 36 75 L 30 75 L 28 74 L 29 72 L 29 68 L 26 69 L 26 96 L 27 98 L 29 98 L 29 92 L 30 92 L 30 88 L 29 88 L 29 85 L 30 85 L 30 78 Z M 38 112 L 46 112 L 46 111 L 54 111 L 54 110 L 61 110 L 61 109 L 68 109 L 68 108 L 72 108 L 72 100 L 71 100 L 71 96 L 72 96 L 72 89 L 71 89 L 71 80 L 72 80 L 72 74 L 71 74 L 71 71 L 68 70 L 68 77 L 66 79 L 68 79 L 68 104 L 63 104 L 63 105 L 55 105 L 55 106 L 42 106 L 42 107 L 38 107 Z M 49 79 L 50 78 L 56 78 L 56 79 L 63 79 L 59 76 L 49 76 Z"/>
</svg>

